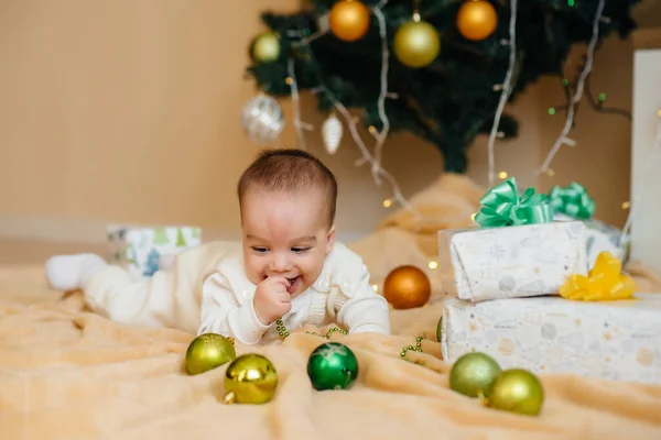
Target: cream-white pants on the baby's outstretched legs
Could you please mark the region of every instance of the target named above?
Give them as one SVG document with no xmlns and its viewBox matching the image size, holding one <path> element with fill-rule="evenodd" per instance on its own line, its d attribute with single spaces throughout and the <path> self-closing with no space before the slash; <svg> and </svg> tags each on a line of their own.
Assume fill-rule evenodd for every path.
<svg viewBox="0 0 661 440">
<path fill-rule="evenodd" d="M 143 280 L 131 279 L 122 267 L 107 266 L 83 286 L 85 301 L 93 311 L 117 322 L 196 333 L 204 279 L 240 245 L 219 241 L 184 251 L 172 267 Z"/>
</svg>

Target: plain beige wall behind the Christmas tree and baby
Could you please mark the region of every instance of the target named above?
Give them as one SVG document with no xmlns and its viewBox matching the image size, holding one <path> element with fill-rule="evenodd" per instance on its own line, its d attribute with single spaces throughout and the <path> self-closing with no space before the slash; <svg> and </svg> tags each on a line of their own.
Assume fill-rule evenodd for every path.
<svg viewBox="0 0 661 440">
<path fill-rule="evenodd" d="M 654 1 L 643 7 L 649 2 Z M 242 105 L 254 94 L 243 79 L 247 46 L 262 29 L 259 11 L 297 6 L 297 0 L 0 0 L 0 233 L 47 235 L 44 230 L 61 218 L 59 228 L 78 224 L 77 231 L 58 230 L 71 237 L 95 235 L 99 224 L 117 221 L 195 223 L 236 237 L 235 183 L 258 151 L 239 123 Z M 595 92 L 608 92 L 608 103 L 630 108 L 629 42 L 606 44 L 593 85 Z M 561 152 L 555 178 L 538 182 L 530 174 L 563 123 L 545 109 L 562 100 L 555 79 L 540 81 L 518 100 L 521 136 L 497 143 L 498 170 L 539 184 L 540 190 L 577 179 L 597 198 L 600 217 L 621 223 L 628 121 L 584 106 L 572 133 L 578 145 Z M 290 123 L 281 141 L 293 145 L 291 102 L 283 108 Z M 303 108 L 304 119 L 321 127 L 314 98 L 304 97 Z M 353 165 L 359 153 L 348 134 L 332 157 L 323 153 L 318 132 L 307 141 L 338 175 L 345 237 L 369 231 L 386 215 L 381 202 L 391 193 L 377 187 L 366 167 Z M 433 146 L 405 134 L 393 135 L 384 155 L 407 195 L 442 169 Z M 469 174 L 486 184 L 485 139 L 470 160 Z M 364 212 L 356 216 L 357 209 Z"/>
</svg>

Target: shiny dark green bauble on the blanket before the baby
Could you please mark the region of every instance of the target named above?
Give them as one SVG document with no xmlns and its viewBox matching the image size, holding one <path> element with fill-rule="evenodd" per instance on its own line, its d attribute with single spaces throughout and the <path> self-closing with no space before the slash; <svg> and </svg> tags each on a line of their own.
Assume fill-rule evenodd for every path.
<svg viewBox="0 0 661 440">
<path fill-rule="evenodd" d="M 348 346 L 327 342 L 310 355 L 307 375 L 315 389 L 347 389 L 358 377 L 358 360 Z"/>
</svg>

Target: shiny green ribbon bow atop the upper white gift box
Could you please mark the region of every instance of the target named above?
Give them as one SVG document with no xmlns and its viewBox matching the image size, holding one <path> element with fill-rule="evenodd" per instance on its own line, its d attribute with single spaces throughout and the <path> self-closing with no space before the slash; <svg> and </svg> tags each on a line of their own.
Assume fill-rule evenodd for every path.
<svg viewBox="0 0 661 440">
<path fill-rule="evenodd" d="M 528 188 L 523 196 L 519 196 L 513 177 L 489 189 L 479 202 L 483 208 L 474 220 L 484 228 L 553 221 L 553 207 L 549 204 L 546 195 L 534 194 L 534 188 Z"/>
</svg>

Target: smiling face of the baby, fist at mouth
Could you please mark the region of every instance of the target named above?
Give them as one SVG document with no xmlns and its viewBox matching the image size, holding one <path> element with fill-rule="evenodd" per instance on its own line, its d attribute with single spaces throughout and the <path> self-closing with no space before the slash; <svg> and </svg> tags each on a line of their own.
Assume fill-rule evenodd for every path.
<svg viewBox="0 0 661 440">
<path fill-rule="evenodd" d="M 292 297 L 318 278 L 335 242 L 327 201 L 317 188 L 301 194 L 248 188 L 241 223 L 248 278 L 254 284 L 269 276 L 288 278 Z"/>
</svg>

